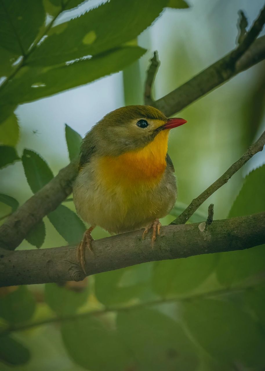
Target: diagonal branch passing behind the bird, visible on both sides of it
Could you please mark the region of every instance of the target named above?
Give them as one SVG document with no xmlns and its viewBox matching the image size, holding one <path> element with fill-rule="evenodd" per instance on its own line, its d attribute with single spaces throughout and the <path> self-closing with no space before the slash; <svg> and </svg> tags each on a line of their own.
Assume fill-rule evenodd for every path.
<svg viewBox="0 0 265 371">
<path fill-rule="evenodd" d="M 232 52 L 231 52 L 232 53 Z M 229 55 L 231 54 L 229 53 Z M 229 55 L 209 66 L 190 81 L 153 102 L 167 116 L 176 114 L 212 89 L 228 81 L 233 76 L 265 59 L 265 36 L 259 37 L 235 63 L 235 68 L 227 68 Z M 151 80 L 150 80 L 151 81 Z M 0 246 L 15 249 L 26 237 L 29 230 L 71 193 L 75 169 L 68 165 L 45 187 L 32 196 L 0 227 Z M 49 188 L 49 192 L 46 190 Z M 48 200 L 48 202 L 46 202 Z"/>
</svg>

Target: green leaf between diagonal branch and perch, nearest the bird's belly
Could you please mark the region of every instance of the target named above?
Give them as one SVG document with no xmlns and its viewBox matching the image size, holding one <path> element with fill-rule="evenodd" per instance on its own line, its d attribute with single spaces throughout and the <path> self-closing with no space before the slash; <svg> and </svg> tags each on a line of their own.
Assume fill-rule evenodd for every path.
<svg viewBox="0 0 265 371">
<path fill-rule="evenodd" d="M 69 244 L 75 244 L 82 240 L 86 227 L 81 219 L 68 207 L 59 205 L 56 210 L 48 214 L 48 218 L 57 232 Z"/>
</svg>

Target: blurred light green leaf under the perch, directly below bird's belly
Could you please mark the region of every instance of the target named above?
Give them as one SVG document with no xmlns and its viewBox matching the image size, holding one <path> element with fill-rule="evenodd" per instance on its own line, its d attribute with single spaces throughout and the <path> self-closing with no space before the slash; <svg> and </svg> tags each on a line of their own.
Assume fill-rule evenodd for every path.
<svg viewBox="0 0 265 371">
<path fill-rule="evenodd" d="M 143 294 L 148 300 L 147 295 L 151 295 L 149 284 L 152 267 L 153 263 L 145 263 L 96 274 L 96 298 L 106 306 L 125 303 Z"/>
</svg>

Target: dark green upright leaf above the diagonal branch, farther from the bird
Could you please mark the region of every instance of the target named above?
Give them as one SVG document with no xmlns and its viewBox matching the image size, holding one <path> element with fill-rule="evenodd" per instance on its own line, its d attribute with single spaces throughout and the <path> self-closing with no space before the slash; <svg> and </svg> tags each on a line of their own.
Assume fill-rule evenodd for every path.
<svg viewBox="0 0 265 371">
<path fill-rule="evenodd" d="M 40 190 L 53 178 L 47 162 L 34 151 L 25 149 L 22 155 L 24 173 L 33 193 Z"/>
</svg>

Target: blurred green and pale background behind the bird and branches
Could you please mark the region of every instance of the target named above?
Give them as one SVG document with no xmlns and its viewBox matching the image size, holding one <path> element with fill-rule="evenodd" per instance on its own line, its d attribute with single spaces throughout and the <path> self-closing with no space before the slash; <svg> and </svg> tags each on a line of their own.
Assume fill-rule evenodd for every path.
<svg viewBox="0 0 265 371">
<path fill-rule="evenodd" d="M 99 3 L 85 1 L 62 13 L 55 25 Z M 145 1 L 142 3 L 144 9 Z M 8 124 L 4 121 L 0 140 L 3 145 L 14 145 L 23 161 L 0 170 L 0 192 L 21 205 L 32 196 L 38 177 L 38 186 L 45 184 L 43 172 L 49 173 L 46 163 L 25 148 L 37 152 L 56 175 L 69 162 L 69 148 L 79 141 L 75 132 L 84 137 L 92 125 L 115 108 L 143 104 L 145 73 L 154 50 L 161 62 L 153 89 L 158 99 L 232 50 L 238 34 L 238 10 L 243 9 L 252 24 L 263 3 L 189 0 L 186 9 L 166 7 L 131 42 L 147 49 L 136 62 L 137 58 L 133 63 L 129 60 L 122 71 L 89 84 L 19 104 L 15 110 L 17 122 L 13 116 Z M 50 12 L 45 20 L 48 24 L 58 4 L 56 0 L 44 0 L 43 4 Z M 139 8 L 139 13 L 149 8 L 143 9 Z M 142 16 L 145 19 L 146 13 Z M 115 19 L 117 26 L 122 17 L 121 10 Z M 104 18 L 99 28 L 104 31 Z M 111 39 L 111 29 L 108 31 Z M 3 56 L 10 53 L 0 45 Z M 0 71 L 0 76 L 7 76 L 5 72 Z M 3 83 L 4 77 L 0 81 Z M 4 107 L 5 102 L 1 104 Z M 264 62 L 178 116 L 187 119 L 188 124 L 170 134 L 169 154 L 179 190 L 176 213 L 223 174 L 264 131 Z M 74 131 L 68 129 L 68 148 L 65 124 Z M 29 158 L 32 162 L 27 162 Z M 264 162 L 264 151 L 255 155 L 200 207 L 198 220 L 205 220 L 210 203 L 215 204 L 215 219 L 264 211 Z M 32 171 L 31 178 L 25 176 L 24 169 L 26 175 L 27 170 Z M 72 201 L 63 205 L 75 211 Z M 4 223 L 11 208 L 6 200 L 0 207 Z M 37 241 L 35 246 L 49 248 L 76 242 L 82 224 L 65 209 L 57 212 L 43 219 L 43 244 L 42 227 L 28 238 Z M 62 214 L 66 217 L 60 222 Z M 163 224 L 176 216 L 167 216 Z M 67 222 L 72 226 L 71 236 L 66 232 Z M 92 233 L 95 239 L 107 235 L 99 227 Z M 18 247 L 33 248 L 27 240 Z M 264 247 L 255 247 L 145 263 L 91 276 L 81 286 L 67 283 L 0 289 L 0 370 L 265 370 L 264 273 Z"/>
</svg>

